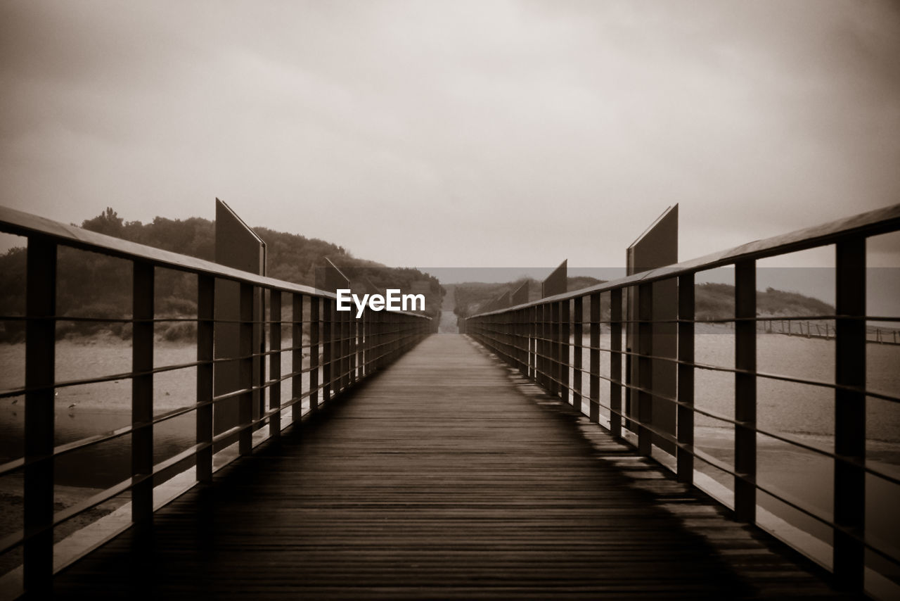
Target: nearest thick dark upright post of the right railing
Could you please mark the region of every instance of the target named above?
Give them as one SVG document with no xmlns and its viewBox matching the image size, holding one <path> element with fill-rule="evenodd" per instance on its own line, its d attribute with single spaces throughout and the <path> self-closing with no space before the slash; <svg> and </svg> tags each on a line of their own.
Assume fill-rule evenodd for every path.
<svg viewBox="0 0 900 601">
<path fill-rule="evenodd" d="M 861 590 L 866 524 L 866 239 L 837 243 L 834 383 L 834 578 Z M 847 388 L 849 387 L 849 388 Z"/>
</svg>

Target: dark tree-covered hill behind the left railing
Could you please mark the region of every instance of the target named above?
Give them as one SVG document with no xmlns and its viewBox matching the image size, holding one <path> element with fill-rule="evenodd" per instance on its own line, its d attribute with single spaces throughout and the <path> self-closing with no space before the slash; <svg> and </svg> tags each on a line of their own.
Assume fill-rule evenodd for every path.
<svg viewBox="0 0 900 601">
<path fill-rule="evenodd" d="M 198 259 L 214 260 L 215 223 L 200 217 L 166 219 L 151 223 L 124 221 L 112 208 L 81 223 L 92 232 L 123 240 L 171 250 Z M 424 293 L 426 312 L 439 316 L 444 289 L 437 278 L 418 269 L 386 268 L 374 261 L 353 257 L 346 249 L 327 241 L 293 233 L 254 228 L 266 241 L 267 275 L 296 284 L 314 287 L 316 270 L 325 259 L 333 261 L 351 279 L 351 287 L 400 288 L 404 293 Z M 25 259 L 23 248 L 14 248 L 0 256 L 0 314 L 22 315 L 25 310 Z M 94 252 L 60 247 L 57 267 L 57 314 L 104 319 L 128 318 L 131 314 L 131 264 Z M 369 286 L 369 285 L 372 286 Z M 157 317 L 194 317 L 196 315 L 196 277 L 192 274 L 157 269 Z M 285 316 L 290 310 L 285 306 Z M 91 323 L 59 321 L 58 337 L 67 334 L 92 334 L 108 331 L 130 336 L 128 323 Z M 192 323 L 157 326 L 157 333 L 171 340 L 193 336 Z M 23 340 L 23 322 L 0 322 L 0 341 Z"/>
</svg>

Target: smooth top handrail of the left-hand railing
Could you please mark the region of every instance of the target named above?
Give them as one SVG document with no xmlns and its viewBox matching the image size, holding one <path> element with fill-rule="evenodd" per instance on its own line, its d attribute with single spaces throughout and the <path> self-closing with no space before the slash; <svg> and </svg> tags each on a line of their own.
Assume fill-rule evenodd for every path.
<svg viewBox="0 0 900 601">
<path fill-rule="evenodd" d="M 157 267 L 189 271 L 193 273 L 225 278 L 255 284 L 257 286 L 277 289 L 282 292 L 293 292 L 307 296 L 320 296 L 335 300 L 338 296 L 333 292 L 320 290 L 319 288 L 294 284 L 283 279 L 257 276 L 249 271 L 241 271 L 213 263 L 209 260 L 198 259 L 189 255 L 179 254 L 171 250 L 157 249 L 153 246 L 140 244 L 116 238 L 104 233 L 91 232 L 76 225 L 67 225 L 41 217 L 40 215 L 25 213 L 8 206 L 0 205 L 0 232 L 12 233 L 22 236 L 45 236 L 59 244 L 64 244 L 79 250 L 101 252 L 111 257 L 125 260 L 149 261 Z M 408 311 L 392 311 L 391 313 L 413 315 L 430 320 L 428 315 L 410 313 Z"/>
</svg>

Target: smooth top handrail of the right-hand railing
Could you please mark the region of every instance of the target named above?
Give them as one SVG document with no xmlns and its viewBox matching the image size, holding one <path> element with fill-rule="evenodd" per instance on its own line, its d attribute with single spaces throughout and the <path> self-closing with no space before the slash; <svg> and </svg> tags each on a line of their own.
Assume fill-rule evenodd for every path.
<svg viewBox="0 0 900 601">
<path fill-rule="evenodd" d="M 640 273 L 613 279 L 595 286 L 584 287 L 562 294 L 538 298 L 537 300 L 521 305 L 509 306 L 494 311 L 470 315 L 466 319 L 474 317 L 486 317 L 527 309 L 528 307 L 557 303 L 572 300 L 580 296 L 588 296 L 599 292 L 607 292 L 617 288 L 646 284 L 662 279 L 676 278 L 682 275 L 697 273 L 707 269 L 716 269 L 726 265 L 732 265 L 742 260 L 757 260 L 774 257 L 797 250 L 808 250 L 818 246 L 831 244 L 840 238 L 852 235 L 872 236 L 879 233 L 896 232 L 900 230 L 900 204 L 889 205 L 867 213 L 860 213 L 851 217 L 845 217 L 833 222 L 822 223 L 807 227 L 802 230 L 779 234 L 763 240 L 747 242 L 728 250 L 712 252 L 697 259 L 681 261 L 667 265 L 666 267 L 648 269 Z"/>
</svg>

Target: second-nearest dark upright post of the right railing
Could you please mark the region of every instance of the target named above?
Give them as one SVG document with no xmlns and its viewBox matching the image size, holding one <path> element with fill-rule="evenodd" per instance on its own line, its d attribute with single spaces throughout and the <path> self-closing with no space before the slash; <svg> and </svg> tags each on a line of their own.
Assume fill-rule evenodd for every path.
<svg viewBox="0 0 900 601">
<path fill-rule="evenodd" d="M 734 264 L 734 517 L 756 521 L 756 261 Z"/>
</svg>

